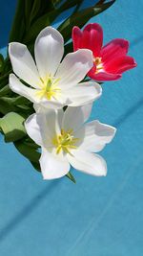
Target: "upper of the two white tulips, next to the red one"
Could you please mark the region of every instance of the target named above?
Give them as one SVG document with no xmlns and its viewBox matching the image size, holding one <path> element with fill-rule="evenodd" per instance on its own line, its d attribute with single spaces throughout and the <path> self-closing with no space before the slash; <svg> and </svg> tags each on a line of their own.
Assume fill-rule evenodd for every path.
<svg viewBox="0 0 143 256">
<path fill-rule="evenodd" d="M 79 83 L 92 68 L 92 51 L 78 50 L 68 54 L 60 63 L 63 53 L 63 37 L 51 27 L 42 30 L 36 38 L 36 65 L 26 45 L 11 42 L 9 55 L 16 75 L 10 74 L 11 90 L 34 104 L 50 108 L 85 105 L 99 98 L 101 86 L 98 83 Z M 31 87 L 24 85 L 19 79 Z"/>
</svg>

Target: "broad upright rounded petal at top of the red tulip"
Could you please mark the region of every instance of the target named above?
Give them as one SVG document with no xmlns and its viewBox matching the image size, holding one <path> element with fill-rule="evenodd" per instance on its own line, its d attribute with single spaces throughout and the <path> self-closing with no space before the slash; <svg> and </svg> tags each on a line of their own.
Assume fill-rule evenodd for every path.
<svg viewBox="0 0 143 256">
<path fill-rule="evenodd" d="M 103 43 L 103 30 L 97 23 L 88 24 L 82 35 L 82 47 L 92 50 L 94 57 L 98 57 Z"/>
</svg>

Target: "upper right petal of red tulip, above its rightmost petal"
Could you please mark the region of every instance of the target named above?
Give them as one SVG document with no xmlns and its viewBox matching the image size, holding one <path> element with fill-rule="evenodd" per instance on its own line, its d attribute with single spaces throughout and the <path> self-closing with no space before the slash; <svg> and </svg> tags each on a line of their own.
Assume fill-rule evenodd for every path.
<svg viewBox="0 0 143 256">
<path fill-rule="evenodd" d="M 105 45 L 101 52 L 100 57 L 102 57 L 103 62 L 111 61 L 112 58 L 119 58 L 125 56 L 128 53 L 129 42 L 125 39 L 114 39 Z"/>
</svg>

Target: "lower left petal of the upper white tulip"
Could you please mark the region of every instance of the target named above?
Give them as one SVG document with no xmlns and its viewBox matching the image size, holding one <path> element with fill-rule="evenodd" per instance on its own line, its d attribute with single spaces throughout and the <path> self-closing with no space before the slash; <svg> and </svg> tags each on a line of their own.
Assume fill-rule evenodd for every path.
<svg viewBox="0 0 143 256">
<path fill-rule="evenodd" d="M 36 90 L 24 85 L 14 74 L 10 74 L 9 84 L 10 89 L 13 92 L 26 97 L 32 103 L 39 103 L 39 100 L 36 97 Z"/>
</svg>

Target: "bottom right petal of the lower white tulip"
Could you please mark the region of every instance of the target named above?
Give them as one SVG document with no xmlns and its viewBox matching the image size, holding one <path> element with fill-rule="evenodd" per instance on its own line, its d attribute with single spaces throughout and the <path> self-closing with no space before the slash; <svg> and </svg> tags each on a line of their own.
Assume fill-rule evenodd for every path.
<svg viewBox="0 0 143 256">
<path fill-rule="evenodd" d="M 106 162 L 100 155 L 78 150 L 73 150 L 72 154 L 68 154 L 67 157 L 72 167 L 76 170 L 88 175 L 107 175 Z"/>
</svg>

